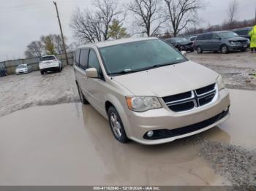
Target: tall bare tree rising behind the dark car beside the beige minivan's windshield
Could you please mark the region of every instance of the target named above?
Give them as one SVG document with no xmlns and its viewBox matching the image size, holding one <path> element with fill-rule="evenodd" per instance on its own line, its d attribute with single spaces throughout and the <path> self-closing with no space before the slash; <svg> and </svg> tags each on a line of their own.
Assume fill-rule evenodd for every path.
<svg viewBox="0 0 256 191">
<path fill-rule="evenodd" d="M 182 31 L 189 23 L 197 22 L 197 11 L 203 8 L 200 0 L 164 0 L 167 18 L 170 20 L 173 36 Z"/>
</svg>

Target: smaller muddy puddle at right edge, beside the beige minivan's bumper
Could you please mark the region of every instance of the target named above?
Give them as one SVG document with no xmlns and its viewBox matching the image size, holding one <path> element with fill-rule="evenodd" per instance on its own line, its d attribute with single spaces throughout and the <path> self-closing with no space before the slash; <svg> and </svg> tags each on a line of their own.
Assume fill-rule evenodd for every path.
<svg viewBox="0 0 256 191">
<path fill-rule="evenodd" d="M 256 91 L 230 90 L 230 114 L 226 122 L 203 133 L 211 141 L 223 141 L 256 151 Z M 224 136 L 224 132 L 228 136 Z"/>
</svg>

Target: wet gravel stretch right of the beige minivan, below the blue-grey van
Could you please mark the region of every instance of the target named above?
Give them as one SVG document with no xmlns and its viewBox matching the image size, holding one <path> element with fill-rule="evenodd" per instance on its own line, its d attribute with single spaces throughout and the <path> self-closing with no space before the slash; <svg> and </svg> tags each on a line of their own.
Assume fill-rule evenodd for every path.
<svg viewBox="0 0 256 191">
<path fill-rule="evenodd" d="M 206 52 L 187 53 L 187 58 L 222 74 L 228 88 L 256 90 L 256 54 L 232 52 L 230 54 Z"/>
</svg>

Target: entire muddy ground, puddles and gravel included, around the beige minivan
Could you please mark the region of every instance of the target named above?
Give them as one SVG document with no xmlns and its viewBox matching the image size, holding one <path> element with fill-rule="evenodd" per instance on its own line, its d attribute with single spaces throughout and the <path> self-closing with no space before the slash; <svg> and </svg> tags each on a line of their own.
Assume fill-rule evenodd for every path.
<svg viewBox="0 0 256 191">
<path fill-rule="evenodd" d="M 78 103 L 72 67 L 0 78 L 0 184 L 255 186 L 256 92 L 246 90 L 256 90 L 256 54 L 187 57 L 243 90 L 230 90 L 227 122 L 156 147 L 114 140 L 108 122 Z"/>
</svg>

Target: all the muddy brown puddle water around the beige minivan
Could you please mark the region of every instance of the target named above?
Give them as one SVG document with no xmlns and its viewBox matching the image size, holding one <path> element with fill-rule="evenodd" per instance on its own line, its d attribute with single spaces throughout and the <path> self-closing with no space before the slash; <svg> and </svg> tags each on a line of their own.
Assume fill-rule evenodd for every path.
<svg viewBox="0 0 256 191">
<path fill-rule="evenodd" d="M 256 92 L 230 93 L 232 116 L 202 136 L 255 149 Z M 184 139 L 157 146 L 120 144 L 89 105 L 36 106 L 0 117 L 0 184 L 230 184 L 199 149 Z"/>
</svg>

